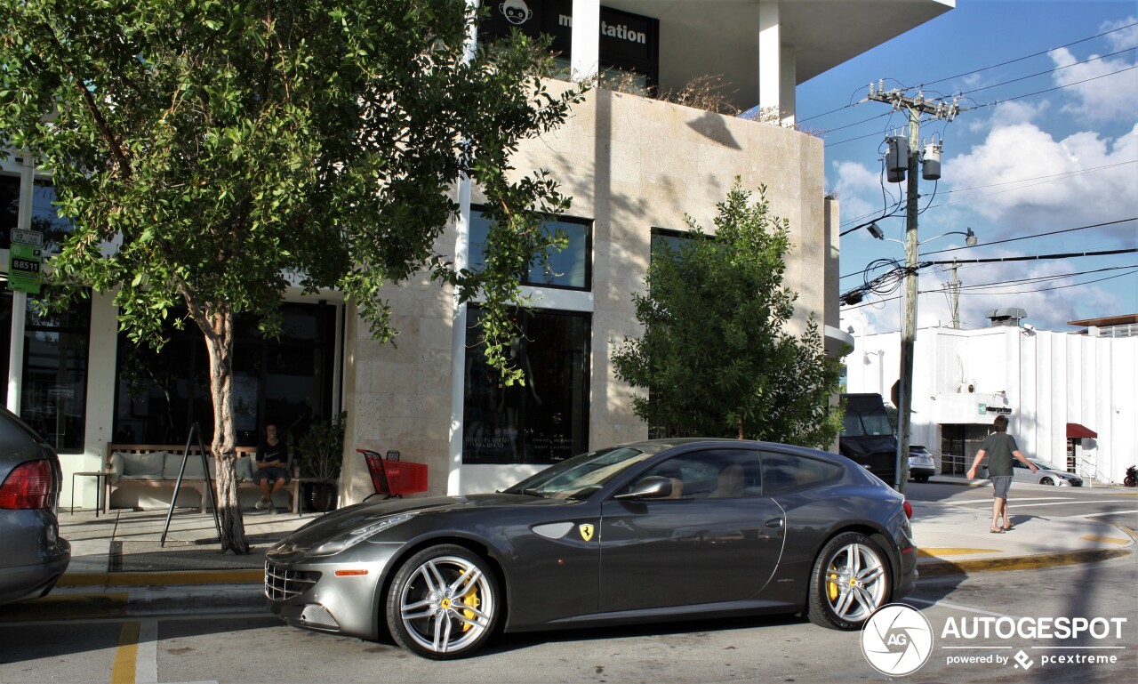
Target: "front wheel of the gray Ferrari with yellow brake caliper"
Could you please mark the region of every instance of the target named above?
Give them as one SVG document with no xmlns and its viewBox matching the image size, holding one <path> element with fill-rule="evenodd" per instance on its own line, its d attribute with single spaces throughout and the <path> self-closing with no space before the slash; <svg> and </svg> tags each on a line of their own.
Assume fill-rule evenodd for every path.
<svg viewBox="0 0 1138 684">
<path fill-rule="evenodd" d="M 478 554 L 452 544 L 430 546 L 403 563 L 387 594 L 395 643 L 432 660 L 465 658 L 497 626 L 497 579 Z"/>
</svg>

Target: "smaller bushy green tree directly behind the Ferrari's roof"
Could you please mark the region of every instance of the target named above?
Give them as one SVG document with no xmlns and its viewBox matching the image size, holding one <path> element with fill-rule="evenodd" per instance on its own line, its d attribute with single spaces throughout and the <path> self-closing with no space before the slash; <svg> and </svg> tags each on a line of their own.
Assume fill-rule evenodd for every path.
<svg viewBox="0 0 1138 684">
<path fill-rule="evenodd" d="M 740 180 L 718 205 L 715 236 L 652 250 L 646 291 L 634 294 L 643 337 L 612 354 L 617 377 L 649 396 L 633 410 L 669 435 L 789 442 L 827 447 L 841 417 L 830 406 L 841 366 L 822 348 L 811 314 L 794 338 L 784 329 L 797 295 L 783 287 L 789 222 L 751 204 Z"/>
</svg>

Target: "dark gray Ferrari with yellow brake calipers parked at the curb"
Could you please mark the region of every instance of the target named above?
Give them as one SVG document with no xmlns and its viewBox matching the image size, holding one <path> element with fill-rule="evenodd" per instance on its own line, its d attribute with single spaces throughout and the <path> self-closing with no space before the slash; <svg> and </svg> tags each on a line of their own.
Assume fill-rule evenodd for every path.
<svg viewBox="0 0 1138 684">
<path fill-rule="evenodd" d="M 916 580 L 912 510 L 835 454 L 650 440 L 494 494 L 329 513 L 269 550 L 264 591 L 290 625 L 434 659 L 497 629 L 780 612 L 856 629 Z"/>
</svg>

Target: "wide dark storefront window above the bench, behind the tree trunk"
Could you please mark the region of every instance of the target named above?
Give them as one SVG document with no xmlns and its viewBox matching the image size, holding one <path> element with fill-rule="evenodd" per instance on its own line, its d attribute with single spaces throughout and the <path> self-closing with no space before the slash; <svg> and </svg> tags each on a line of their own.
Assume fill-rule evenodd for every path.
<svg viewBox="0 0 1138 684">
<path fill-rule="evenodd" d="M 237 443 L 256 446 L 273 422 L 295 445 L 314 420 L 333 412 L 336 307 L 283 305 L 279 339 L 262 337 L 256 321 L 239 316 L 233 346 L 233 421 Z M 171 327 L 162 352 L 118 335 L 118 393 L 114 440 L 184 445 L 195 422 L 213 435 L 209 355 L 193 323 Z"/>
</svg>

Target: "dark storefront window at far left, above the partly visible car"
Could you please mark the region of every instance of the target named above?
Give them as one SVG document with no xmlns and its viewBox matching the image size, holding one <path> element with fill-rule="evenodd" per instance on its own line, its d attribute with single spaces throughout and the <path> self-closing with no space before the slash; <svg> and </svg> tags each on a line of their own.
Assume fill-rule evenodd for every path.
<svg viewBox="0 0 1138 684">
<path fill-rule="evenodd" d="M 86 366 L 91 302 L 63 313 L 40 314 L 38 295 L 27 296 L 19 417 L 59 453 L 82 453 L 86 428 Z M 11 291 L 0 295 L 2 353 L 11 344 Z M 3 384 L 8 401 L 8 384 Z"/>
</svg>

